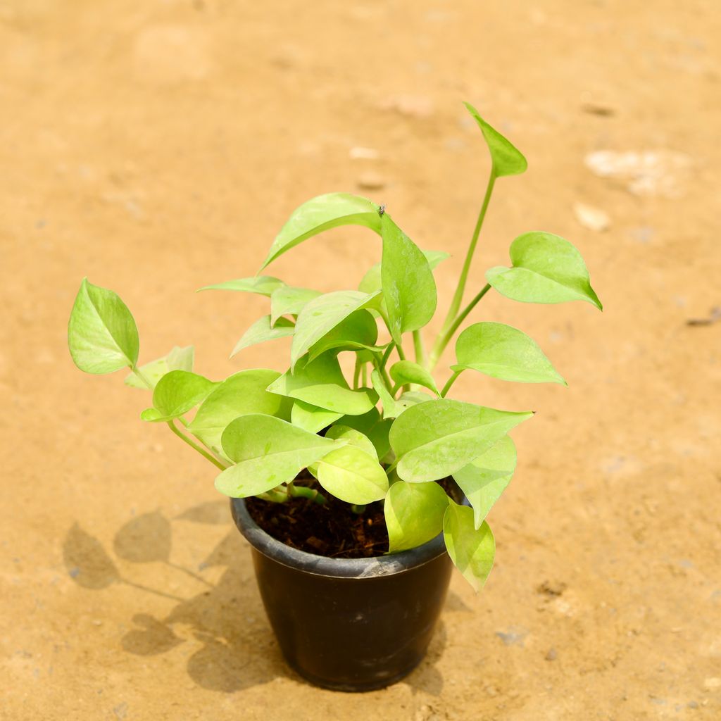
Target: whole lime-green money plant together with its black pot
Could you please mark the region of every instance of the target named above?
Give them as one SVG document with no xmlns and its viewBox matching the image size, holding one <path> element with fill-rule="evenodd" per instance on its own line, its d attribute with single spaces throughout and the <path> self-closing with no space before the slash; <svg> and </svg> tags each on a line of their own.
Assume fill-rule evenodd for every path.
<svg viewBox="0 0 721 721">
<path fill-rule="evenodd" d="M 495 182 L 526 169 L 523 155 L 466 107 L 490 149 L 490 178 L 428 353 L 421 329 L 436 309 L 433 270 L 447 254 L 420 250 L 383 205 L 346 193 L 297 208 L 261 270 L 324 230 L 366 226 L 380 236 L 382 255 L 358 290 L 321 294 L 268 275 L 208 286 L 270 298 L 270 314 L 232 355 L 291 337 L 284 373 L 255 368 L 211 381 L 193 371 L 193 348 L 138 366 L 131 312 L 87 280 L 70 317 L 76 365 L 88 373 L 130 368 L 125 382 L 152 391 L 143 420 L 167 424 L 216 466 L 216 488 L 231 497 L 251 544 L 288 663 L 334 689 L 378 688 L 409 673 L 430 641 L 451 561 L 476 590 L 491 570 L 486 516 L 516 465 L 508 432 L 533 414 L 450 399 L 460 373 L 565 384 L 530 337 L 495 322 L 470 324 L 457 336 L 456 361 L 437 384 L 433 371 L 461 324 L 491 290 L 525 303 L 581 300 L 601 309 L 578 250 L 538 231 L 516 238 L 510 267 L 490 268 L 486 285 L 463 305 Z"/>
</svg>

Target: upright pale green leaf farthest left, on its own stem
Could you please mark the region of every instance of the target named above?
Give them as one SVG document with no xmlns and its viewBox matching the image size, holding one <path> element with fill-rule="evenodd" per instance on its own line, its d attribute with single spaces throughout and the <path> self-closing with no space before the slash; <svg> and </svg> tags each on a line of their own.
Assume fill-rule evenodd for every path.
<svg viewBox="0 0 721 721">
<path fill-rule="evenodd" d="M 83 278 L 68 323 L 68 348 L 81 371 L 112 373 L 138 362 L 138 328 L 118 293 Z"/>
</svg>

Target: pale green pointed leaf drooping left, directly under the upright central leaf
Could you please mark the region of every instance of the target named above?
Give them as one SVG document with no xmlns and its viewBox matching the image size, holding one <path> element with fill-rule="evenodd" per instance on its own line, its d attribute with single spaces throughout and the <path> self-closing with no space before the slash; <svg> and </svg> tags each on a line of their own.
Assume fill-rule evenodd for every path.
<svg viewBox="0 0 721 721">
<path fill-rule="evenodd" d="M 324 293 L 309 301 L 298 314 L 296 332 L 293 335 L 293 345 L 291 346 L 291 368 L 295 368 L 298 358 L 308 353 L 312 345 L 317 344 L 337 329 L 355 311 L 372 305 L 379 295 L 380 291 L 372 295 L 358 291 L 336 291 L 335 293 Z M 366 315 L 375 326 L 370 314 Z M 378 329 L 376 327 L 377 337 Z"/>
</svg>

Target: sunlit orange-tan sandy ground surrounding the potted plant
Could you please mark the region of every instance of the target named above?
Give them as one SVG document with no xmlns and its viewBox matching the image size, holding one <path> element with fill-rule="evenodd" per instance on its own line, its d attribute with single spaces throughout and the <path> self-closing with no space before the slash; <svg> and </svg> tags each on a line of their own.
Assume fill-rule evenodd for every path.
<svg viewBox="0 0 721 721">
<path fill-rule="evenodd" d="M 721 718 L 721 323 L 688 324 L 721 305 L 719 37 L 715 0 L 0 0 L 0 717 Z M 213 469 L 122 374 L 76 371 L 68 311 L 88 275 L 144 361 L 194 342 L 213 378 L 282 369 L 282 345 L 226 360 L 262 298 L 193 291 L 255 273 L 330 190 L 452 252 L 445 305 L 488 169 L 463 99 L 530 164 L 497 184 L 474 287 L 545 229 L 606 310 L 474 311 L 570 388 L 462 376 L 456 397 L 539 411 L 492 577 L 454 578 L 407 681 L 320 691 L 280 658 Z M 601 177 L 596 151 L 635 155 Z M 378 258 L 345 230 L 273 272 L 352 288 Z"/>
</svg>

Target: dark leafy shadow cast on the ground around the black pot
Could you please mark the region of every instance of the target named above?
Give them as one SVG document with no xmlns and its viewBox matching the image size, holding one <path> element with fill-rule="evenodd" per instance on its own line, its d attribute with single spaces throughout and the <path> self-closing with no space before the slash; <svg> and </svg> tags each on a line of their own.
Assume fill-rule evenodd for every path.
<svg viewBox="0 0 721 721">
<path fill-rule="evenodd" d="M 188 508 L 173 520 L 220 526 L 228 523 L 229 511 L 224 501 L 211 501 Z M 142 611 L 134 614 L 134 628 L 120 641 L 123 649 L 138 656 L 168 653 L 189 640 L 178 634 L 190 629 L 191 636 L 202 645 L 188 659 L 187 673 L 204 689 L 232 693 L 266 684 L 278 676 L 303 681 L 280 655 L 265 619 L 246 544 L 235 528 L 211 549 L 197 570 L 170 561 L 172 530 L 171 521 L 159 511 L 143 513 L 116 532 L 113 554 L 133 563 L 164 563 L 207 587 L 188 598 L 136 583 L 121 575 L 113 554 L 77 522 L 69 528 L 63 541 L 63 562 L 68 575 L 82 588 L 102 590 L 122 583 L 143 594 L 162 596 L 175 602 L 164 618 Z M 213 567 L 225 569 L 215 584 L 203 578 L 203 572 Z M 463 602 L 451 593 L 448 606 L 456 607 L 458 603 Z M 427 657 L 404 681 L 414 692 L 441 694 L 443 677 L 435 662 L 441 658 L 445 645 L 446 629 L 441 622 Z"/>
</svg>

